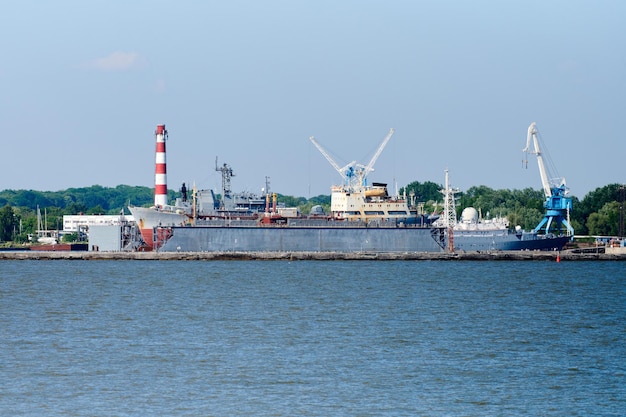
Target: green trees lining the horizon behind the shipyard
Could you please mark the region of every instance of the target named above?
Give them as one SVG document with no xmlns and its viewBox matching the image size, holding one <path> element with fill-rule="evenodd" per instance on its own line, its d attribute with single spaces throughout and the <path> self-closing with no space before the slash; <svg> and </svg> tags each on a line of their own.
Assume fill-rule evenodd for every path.
<svg viewBox="0 0 626 417">
<path fill-rule="evenodd" d="M 443 186 L 434 182 L 408 184 L 400 194 L 414 195 L 424 203 L 426 212 L 440 212 L 443 203 Z M 168 198 L 174 201 L 179 191 L 169 190 Z M 532 230 L 541 221 L 545 209 L 541 190 L 494 190 L 475 186 L 456 195 L 457 218 L 465 207 L 480 210 L 483 218 L 507 217 L 511 227 L 520 225 Z M 287 207 L 298 207 L 302 213 L 321 205 L 330 212 L 330 196 L 311 198 L 278 195 L 278 201 Z M 572 197 L 573 210 L 570 223 L 577 235 L 620 236 L 624 234 L 624 186 L 609 184 L 588 193 L 582 200 Z M 62 227 L 64 215 L 119 214 L 129 204 L 150 206 L 154 190 L 150 187 L 118 185 L 102 187 L 68 188 L 62 191 L 4 190 L 0 191 L 0 241 L 24 242 L 29 233 L 37 230 L 37 208 L 47 214 L 47 228 Z M 127 213 L 127 211 L 126 211 Z"/>
</svg>

